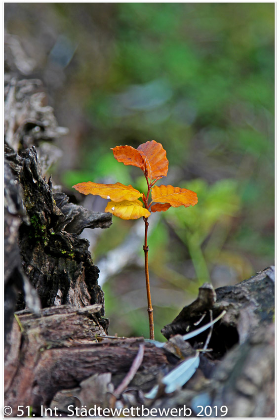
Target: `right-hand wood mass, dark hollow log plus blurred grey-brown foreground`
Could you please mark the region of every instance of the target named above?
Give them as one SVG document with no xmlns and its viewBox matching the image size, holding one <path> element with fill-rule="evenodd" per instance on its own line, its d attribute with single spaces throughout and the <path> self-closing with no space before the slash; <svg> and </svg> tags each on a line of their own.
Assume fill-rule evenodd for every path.
<svg viewBox="0 0 280 420">
<path fill-rule="evenodd" d="M 198 406 L 217 406 L 218 410 L 226 406 L 225 417 L 274 417 L 274 289 L 274 267 L 215 291 L 203 285 L 198 299 L 161 331 L 166 337 L 186 334 L 186 328 L 191 332 L 209 321 L 209 309 L 213 317 L 225 309 L 226 315 L 213 327 L 209 342 L 213 351 L 200 357 L 200 367 L 185 389 L 158 399 L 153 407 L 186 404 L 198 414 Z M 197 347 L 207 334 L 188 341 Z M 221 414 L 218 411 L 218 417 Z"/>
</svg>

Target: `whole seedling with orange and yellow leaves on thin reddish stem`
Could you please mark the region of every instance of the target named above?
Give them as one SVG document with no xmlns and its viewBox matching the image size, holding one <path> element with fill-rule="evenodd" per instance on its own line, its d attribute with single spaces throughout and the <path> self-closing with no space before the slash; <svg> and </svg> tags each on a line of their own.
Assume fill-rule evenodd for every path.
<svg viewBox="0 0 280 420">
<path fill-rule="evenodd" d="M 80 184 L 74 185 L 73 188 L 83 194 L 99 195 L 102 198 L 111 200 L 107 204 L 105 211 L 121 219 L 130 220 L 143 217 L 145 223 L 143 250 L 145 255 L 150 339 L 155 339 L 148 267 L 148 217 L 150 217 L 151 212 L 166 211 L 170 207 L 195 206 L 198 202 L 198 197 L 195 192 L 186 188 L 172 187 L 172 185 L 155 185 L 168 172 L 166 151 L 163 149 L 161 143 L 152 140 L 140 144 L 137 149 L 131 146 L 116 146 L 112 150 L 118 162 L 124 165 L 136 166 L 143 170 L 148 187 L 146 195 L 131 185 L 123 185 L 120 182 L 116 184 L 97 184 L 91 181 L 81 182 Z M 149 202 L 150 193 L 152 200 Z M 138 200 L 139 198 L 142 201 Z"/>
</svg>

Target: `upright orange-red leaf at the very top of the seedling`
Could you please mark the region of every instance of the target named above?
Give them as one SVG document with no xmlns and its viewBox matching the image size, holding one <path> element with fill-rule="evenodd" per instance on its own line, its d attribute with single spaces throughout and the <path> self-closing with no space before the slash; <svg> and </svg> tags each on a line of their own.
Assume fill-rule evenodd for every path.
<svg viewBox="0 0 280 420">
<path fill-rule="evenodd" d="M 148 169 L 148 177 L 152 179 L 162 178 L 168 172 L 168 160 L 166 159 L 166 151 L 162 144 L 155 140 L 146 141 L 140 144 L 137 150 L 145 157 Z"/>
</svg>

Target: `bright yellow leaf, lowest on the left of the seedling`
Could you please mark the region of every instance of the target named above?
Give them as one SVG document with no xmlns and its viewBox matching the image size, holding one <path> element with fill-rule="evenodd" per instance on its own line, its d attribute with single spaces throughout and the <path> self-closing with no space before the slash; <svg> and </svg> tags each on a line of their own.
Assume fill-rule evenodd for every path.
<svg viewBox="0 0 280 420">
<path fill-rule="evenodd" d="M 143 208 L 143 204 L 139 200 L 124 200 L 118 203 L 110 201 L 105 211 L 113 213 L 114 216 L 118 216 L 124 220 L 139 219 L 139 217 L 149 217 L 151 215 L 149 210 Z"/>
</svg>

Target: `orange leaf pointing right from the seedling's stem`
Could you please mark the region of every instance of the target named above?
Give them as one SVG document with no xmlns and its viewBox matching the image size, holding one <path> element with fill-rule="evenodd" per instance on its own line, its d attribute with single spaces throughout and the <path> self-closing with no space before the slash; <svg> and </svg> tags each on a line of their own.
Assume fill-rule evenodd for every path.
<svg viewBox="0 0 280 420">
<path fill-rule="evenodd" d="M 152 189 L 152 200 L 156 203 L 169 203 L 172 207 L 195 206 L 198 196 L 194 191 L 186 188 L 172 187 L 172 185 L 157 185 Z"/>
</svg>

